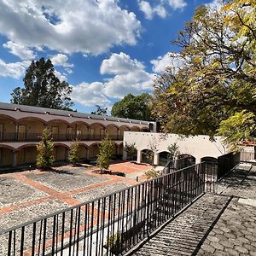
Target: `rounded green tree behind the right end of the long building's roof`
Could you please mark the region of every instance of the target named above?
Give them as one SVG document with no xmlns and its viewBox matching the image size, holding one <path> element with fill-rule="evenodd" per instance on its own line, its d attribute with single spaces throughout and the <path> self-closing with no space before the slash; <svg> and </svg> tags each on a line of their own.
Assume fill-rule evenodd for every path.
<svg viewBox="0 0 256 256">
<path fill-rule="evenodd" d="M 149 103 L 151 100 L 152 96 L 148 93 L 143 93 L 139 96 L 133 96 L 130 93 L 121 101 L 113 104 L 111 114 L 125 119 L 150 120 L 151 110 L 149 108 Z"/>
</svg>

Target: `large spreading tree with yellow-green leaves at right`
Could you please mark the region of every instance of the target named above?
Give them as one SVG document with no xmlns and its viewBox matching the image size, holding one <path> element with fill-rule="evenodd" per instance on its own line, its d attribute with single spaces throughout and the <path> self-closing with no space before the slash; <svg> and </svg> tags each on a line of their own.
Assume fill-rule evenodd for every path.
<svg viewBox="0 0 256 256">
<path fill-rule="evenodd" d="M 255 5 L 202 5 L 179 32 L 174 44 L 182 48 L 182 65 L 168 67 L 154 83 L 154 117 L 166 132 L 218 134 L 233 150 L 255 137 Z"/>
</svg>

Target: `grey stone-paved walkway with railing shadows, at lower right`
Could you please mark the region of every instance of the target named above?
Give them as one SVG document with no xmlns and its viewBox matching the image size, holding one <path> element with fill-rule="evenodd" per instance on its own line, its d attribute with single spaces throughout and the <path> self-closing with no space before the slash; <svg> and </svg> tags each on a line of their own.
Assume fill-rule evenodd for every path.
<svg viewBox="0 0 256 256">
<path fill-rule="evenodd" d="M 256 255 L 256 166 L 240 165 L 129 255 Z"/>
</svg>

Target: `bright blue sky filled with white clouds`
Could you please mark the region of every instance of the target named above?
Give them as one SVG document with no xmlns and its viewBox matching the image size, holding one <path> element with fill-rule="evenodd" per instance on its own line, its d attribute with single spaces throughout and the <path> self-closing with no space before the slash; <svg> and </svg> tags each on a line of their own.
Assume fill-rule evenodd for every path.
<svg viewBox="0 0 256 256">
<path fill-rule="evenodd" d="M 108 108 L 128 93 L 153 93 L 177 65 L 177 32 L 201 4 L 218 0 L 0 0 L 0 102 L 23 87 L 32 60 L 50 59 L 73 86 L 73 109 Z M 177 60 L 178 61 L 178 60 Z"/>
</svg>

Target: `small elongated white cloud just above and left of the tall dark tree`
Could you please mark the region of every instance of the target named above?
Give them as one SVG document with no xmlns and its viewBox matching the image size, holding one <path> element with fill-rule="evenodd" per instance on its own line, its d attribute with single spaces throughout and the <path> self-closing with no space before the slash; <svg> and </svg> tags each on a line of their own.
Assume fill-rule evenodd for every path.
<svg viewBox="0 0 256 256">
<path fill-rule="evenodd" d="M 32 60 L 35 57 L 33 51 L 22 44 L 9 41 L 3 44 L 3 47 L 9 49 L 13 55 L 17 55 L 21 60 Z"/>
</svg>

